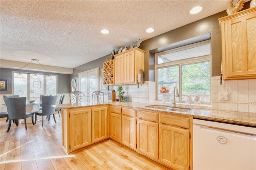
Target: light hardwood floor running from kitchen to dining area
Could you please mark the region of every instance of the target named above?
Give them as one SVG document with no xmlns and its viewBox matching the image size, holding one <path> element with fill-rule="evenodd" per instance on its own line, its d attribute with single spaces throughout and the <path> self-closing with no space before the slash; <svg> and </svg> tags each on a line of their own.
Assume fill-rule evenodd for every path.
<svg viewBox="0 0 256 170">
<path fill-rule="evenodd" d="M 106 140 L 67 155 L 62 149 L 61 117 L 55 114 L 44 117 L 36 125 L 12 124 L 6 132 L 6 118 L 0 119 L 0 169 L 1 170 L 163 170 L 169 169 L 134 150 Z"/>
</svg>

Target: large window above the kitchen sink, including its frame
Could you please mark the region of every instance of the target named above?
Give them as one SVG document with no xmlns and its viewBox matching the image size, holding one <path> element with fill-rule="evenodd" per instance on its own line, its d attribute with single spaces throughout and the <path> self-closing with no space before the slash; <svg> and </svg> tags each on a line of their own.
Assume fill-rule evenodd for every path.
<svg viewBox="0 0 256 170">
<path fill-rule="evenodd" d="M 174 96 L 177 86 L 179 97 L 176 102 L 192 101 L 200 96 L 203 104 L 210 104 L 211 44 L 203 41 L 177 49 L 156 53 L 156 100 L 161 100 L 164 86 L 169 90 L 167 102 Z"/>
</svg>

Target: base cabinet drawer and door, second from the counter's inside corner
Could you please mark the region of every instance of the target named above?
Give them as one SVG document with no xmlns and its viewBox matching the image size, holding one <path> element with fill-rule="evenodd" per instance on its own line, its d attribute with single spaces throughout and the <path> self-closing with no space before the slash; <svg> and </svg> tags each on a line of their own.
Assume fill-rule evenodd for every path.
<svg viewBox="0 0 256 170">
<path fill-rule="evenodd" d="M 122 143 L 136 149 L 136 110 L 122 108 Z"/>
</svg>

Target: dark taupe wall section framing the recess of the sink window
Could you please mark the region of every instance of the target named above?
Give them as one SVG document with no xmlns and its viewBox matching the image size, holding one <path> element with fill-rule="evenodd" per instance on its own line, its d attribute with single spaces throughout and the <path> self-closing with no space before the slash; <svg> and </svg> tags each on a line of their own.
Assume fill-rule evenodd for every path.
<svg viewBox="0 0 256 170">
<path fill-rule="evenodd" d="M 250 1 L 244 4 L 242 10 L 248 9 Z M 228 8 L 228 7 L 227 7 Z M 219 18 L 227 16 L 225 11 L 214 14 L 202 20 L 184 25 L 177 29 L 168 31 L 156 37 L 152 37 L 140 44 L 140 49 L 144 50 L 144 69 L 146 81 L 155 80 L 155 54 L 151 52 L 153 49 L 159 49 L 173 43 L 184 41 L 206 33 L 211 34 L 212 42 L 212 76 L 220 75 L 220 63 L 222 61 L 222 47 L 221 47 L 221 31 L 219 25 Z M 168 21 L 172 22 L 172 20 Z M 159 51 L 160 52 L 160 51 Z"/>
</svg>

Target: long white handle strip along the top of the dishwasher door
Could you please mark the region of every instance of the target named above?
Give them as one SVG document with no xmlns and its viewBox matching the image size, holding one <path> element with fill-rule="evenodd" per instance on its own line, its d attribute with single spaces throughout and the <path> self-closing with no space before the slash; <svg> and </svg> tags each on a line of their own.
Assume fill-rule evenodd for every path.
<svg viewBox="0 0 256 170">
<path fill-rule="evenodd" d="M 230 136 L 235 136 L 235 137 L 242 137 L 245 139 L 250 139 L 250 140 L 256 141 L 256 135 L 253 135 L 253 134 L 226 131 L 224 129 L 218 129 L 217 127 L 213 128 L 213 127 L 200 126 L 200 125 L 199 125 L 199 128 L 200 128 L 200 130 L 204 130 L 204 131 L 210 131 L 210 132 L 214 132 L 214 133 L 220 133 L 220 134 L 230 135 Z"/>
</svg>

